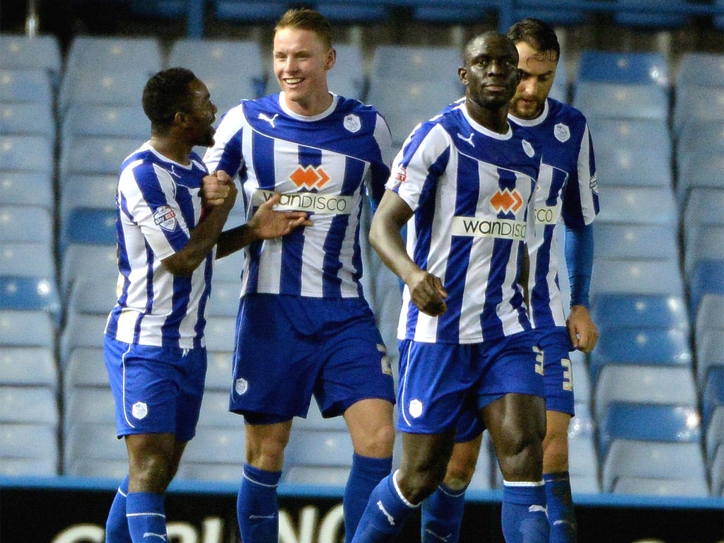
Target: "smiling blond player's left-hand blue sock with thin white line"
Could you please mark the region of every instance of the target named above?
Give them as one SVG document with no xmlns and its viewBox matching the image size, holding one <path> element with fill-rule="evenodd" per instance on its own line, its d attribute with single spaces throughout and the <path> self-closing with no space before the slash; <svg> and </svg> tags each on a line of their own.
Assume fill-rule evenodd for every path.
<svg viewBox="0 0 724 543">
<path fill-rule="evenodd" d="M 281 471 L 265 471 L 244 464 L 236 514 L 242 541 L 279 542 L 277 486 Z"/>
</svg>

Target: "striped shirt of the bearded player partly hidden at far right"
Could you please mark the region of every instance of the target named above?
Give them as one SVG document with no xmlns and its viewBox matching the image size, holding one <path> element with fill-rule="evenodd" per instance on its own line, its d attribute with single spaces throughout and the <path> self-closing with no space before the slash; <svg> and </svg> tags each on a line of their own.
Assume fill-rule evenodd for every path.
<svg viewBox="0 0 724 543">
<path fill-rule="evenodd" d="M 591 224 L 599 211 L 596 163 L 581 111 L 548 98 L 536 119 L 508 117 L 541 142 L 543 164 L 536 185 L 536 226 L 529 240 L 531 317 L 535 328 L 565 326 L 555 226 Z M 564 267 L 565 270 L 565 267 Z"/>
</svg>

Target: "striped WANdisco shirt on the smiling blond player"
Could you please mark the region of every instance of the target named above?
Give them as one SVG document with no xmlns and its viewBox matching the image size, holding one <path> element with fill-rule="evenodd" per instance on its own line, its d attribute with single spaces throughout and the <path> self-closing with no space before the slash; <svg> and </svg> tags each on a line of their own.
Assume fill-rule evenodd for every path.
<svg viewBox="0 0 724 543">
<path fill-rule="evenodd" d="M 307 211 L 314 222 L 249 245 L 242 295 L 361 297 L 362 198 L 382 197 L 390 129 L 373 107 L 341 96 L 313 117 L 283 104 L 279 93 L 231 109 L 204 158 L 211 172 L 238 172 L 247 218 L 276 191 L 279 210 Z"/>
</svg>

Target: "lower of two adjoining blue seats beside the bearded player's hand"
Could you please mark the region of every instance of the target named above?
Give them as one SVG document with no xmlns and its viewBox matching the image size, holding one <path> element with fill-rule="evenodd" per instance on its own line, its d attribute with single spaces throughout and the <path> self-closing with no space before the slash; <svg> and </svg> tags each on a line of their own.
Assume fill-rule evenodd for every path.
<svg viewBox="0 0 724 543">
<path fill-rule="evenodd" d="M 589 355 L 591 382 L 597 386 L 600 371 L 608 364 L 683 366 L 693 368 L 689 334 L 681 329 L 600 329 L 598 344 Z"/>
</svg>

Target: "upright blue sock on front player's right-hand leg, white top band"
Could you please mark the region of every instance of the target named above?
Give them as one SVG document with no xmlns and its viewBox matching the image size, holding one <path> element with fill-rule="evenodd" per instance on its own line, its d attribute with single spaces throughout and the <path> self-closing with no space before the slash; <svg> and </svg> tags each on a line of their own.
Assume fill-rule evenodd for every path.
<svg viewBox="0 0 724 543">
<path fill-rule="evenodd" d="M 501 516 L 505 543 L 547 543 L 549 528 L 542 481 L 503 481 Z"/>
</svg>

